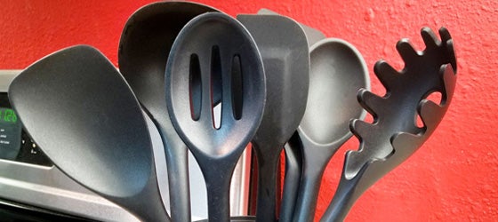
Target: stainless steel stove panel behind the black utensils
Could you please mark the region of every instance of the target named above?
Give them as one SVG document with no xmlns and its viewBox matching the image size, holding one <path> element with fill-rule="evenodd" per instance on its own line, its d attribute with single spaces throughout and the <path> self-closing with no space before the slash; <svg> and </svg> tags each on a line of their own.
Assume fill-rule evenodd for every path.
<svg viewBox="0 0 498 222">
<path fill-rule="evenodd" d="M 81 220 L 99 221 L 137 221 L 133 215 L 116 204 L 108 202 L 68 178 L 52 164 L 40 147 L 37 147 L 36 141 L 32 141 L 22 130 L 6 92 L 9 83 L 19 73 L 20 70 L 0 70 L 0 215 L 28 217 L 29 214 L 33 214 L 35 216 L 32 217 L 39 219 L 64 217 L 74 220 L 81 218 Z M 169 206 L 163 145 L 153 123 L 149 123 L 149 128 L 157 163 L 159 188 L 165 205 Z M 247 149 L 240 158 L 232 178 L 230 187 L 232 215 L 247 214 L 251 164 L 249 150 Z M 194 220 L 207 218 L 205 183 L 202 177 L 195 159 L 190 155 L 190 190 Z M 16 213 L 3 215 L 2 212 L 6 211 Z"/>
</svg>

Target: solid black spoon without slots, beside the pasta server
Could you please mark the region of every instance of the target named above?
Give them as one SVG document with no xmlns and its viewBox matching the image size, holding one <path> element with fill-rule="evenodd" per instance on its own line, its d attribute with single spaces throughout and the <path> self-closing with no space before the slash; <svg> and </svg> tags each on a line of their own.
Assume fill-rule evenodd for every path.
<svg viewBox="0 0 498 222">
<path fill-rule="evenodd" d="M 353 45 L 341 39 L 317 42 L 309 56 L 308 105 L 298 129 L 303 169 L 293 221 L 313 220 L 325 167 L 352 136 L 349 120 L 365 116 L 356 94 L 370 84 L 365 60 Z"/>
</svg>

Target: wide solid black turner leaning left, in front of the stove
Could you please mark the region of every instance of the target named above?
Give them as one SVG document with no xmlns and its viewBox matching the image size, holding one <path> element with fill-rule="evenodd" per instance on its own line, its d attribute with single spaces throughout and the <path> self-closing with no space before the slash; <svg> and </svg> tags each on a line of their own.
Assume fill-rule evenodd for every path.
<svg viewBox="0 0 498 222">
<path fill-rule="evenodd" d="M 12 81 L 9 98 L 68 177 L 143 221 L 170 221 L 141 107 L 100 52 L 80 45 L 36 61 Z"/>
</svg>

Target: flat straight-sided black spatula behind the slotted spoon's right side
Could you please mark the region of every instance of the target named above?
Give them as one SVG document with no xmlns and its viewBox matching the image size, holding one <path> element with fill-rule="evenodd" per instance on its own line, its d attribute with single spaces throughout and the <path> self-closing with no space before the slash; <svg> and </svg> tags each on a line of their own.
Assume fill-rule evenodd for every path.
<svg viewBox="0 0 498 222">
<path fill-rule="evenodd" d="M 263 59 L 267 102 L 252 144 L 258 161 L 256 219 L 277 221 L 277 168 L 285 142 L 301 123 L 309 87 L 308 42 L 294 20 L 280 15 L 237 15 Z"/>
</svg>

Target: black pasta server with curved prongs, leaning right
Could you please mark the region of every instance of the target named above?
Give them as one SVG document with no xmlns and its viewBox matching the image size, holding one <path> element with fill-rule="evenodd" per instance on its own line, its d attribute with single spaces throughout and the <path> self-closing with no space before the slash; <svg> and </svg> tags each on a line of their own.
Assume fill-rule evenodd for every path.
<svg viewBox="0 0 498 222">
<path fill-rule="evenodd" d="M 441 122 L 454 94 L 456 58 L 448 30 L 440 28 L 439 35 L 441 41 L 430 28 L 422 28 L 427 46 L 422 52 L 406 39 L 399 41 L 397 49 L 405 61 L 400 72 L 383 60 L 375 64 L 375 75 L 387 92 L 383 97 L 366 90 L 358 93 L 374 123 L 350 123 L 360 147 L 347 153 L 339 187 L 321 221 L 342 221 L 357 198 L 413 155 Z M 438 104 L 427 100 L 434 92 L 441 93 Z M 417 126 L 417 115 L 422 127 Z"/>
</svg>

